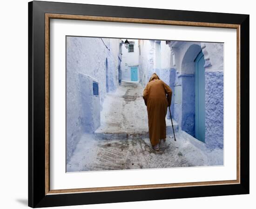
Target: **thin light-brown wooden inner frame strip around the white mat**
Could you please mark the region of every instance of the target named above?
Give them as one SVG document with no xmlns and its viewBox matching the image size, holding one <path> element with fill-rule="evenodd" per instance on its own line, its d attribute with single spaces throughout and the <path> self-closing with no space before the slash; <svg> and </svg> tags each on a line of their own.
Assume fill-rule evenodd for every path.
<svg viewBox="0 0 256 209">
<path fill-rule="evenodd" d="M 50 189 L 50 19 L 91 20 L 91 21 L 125 22 L 125 23 L 160 24 L 160 25 L 173 25 L 173 26 L 235 28 L 236 29 L 236 45 L 237 45 L 237 52 L 236 52 L 236 96 L 237 96 L 236 98 L 236 118 L 237 118 L 236 180 L 51 190 Z M 61 193 L 78 193 L 78 192 L 134 190 L 134 189 L 160 189 L 160 188 L 172 188 L 172 187 L 208 186 L 208 185 L 239 184 L 239 183 L 240 183 L 240 25 L 208 23 L 208 22 L 174 21 L 174 20 L 151 20 L 151 19 L 86 16 L 86 15 L 69 15 L 69 14 L 54 14 L 54 13 L 45 14 L 45 195 L 54 195 L 54 194 L 61 194 Z"/>
</svg>

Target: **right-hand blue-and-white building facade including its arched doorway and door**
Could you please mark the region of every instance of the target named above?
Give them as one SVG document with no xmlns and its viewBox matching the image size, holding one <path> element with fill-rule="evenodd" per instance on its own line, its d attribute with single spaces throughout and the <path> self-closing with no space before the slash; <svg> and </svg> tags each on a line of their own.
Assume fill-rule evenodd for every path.
<svg viewBox="0 0 256 209">
<path fill-rule="evenodd" d="M 222 149 L 223 43 L 139 40 L 139 51 L 141 84 L 155 72 L 171 87 L 179 130 Z"/>
</svg>

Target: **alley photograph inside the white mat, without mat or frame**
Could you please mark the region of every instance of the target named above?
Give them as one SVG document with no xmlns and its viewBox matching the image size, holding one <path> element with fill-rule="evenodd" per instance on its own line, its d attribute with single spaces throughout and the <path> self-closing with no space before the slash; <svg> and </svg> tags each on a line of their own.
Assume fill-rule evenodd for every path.
<svg viewBox="0 0 256 209">
<path fill-rule="evenodd" d="M 223 47 L 66 35 L 66 172 L 223 166 Z"/>
</svg>

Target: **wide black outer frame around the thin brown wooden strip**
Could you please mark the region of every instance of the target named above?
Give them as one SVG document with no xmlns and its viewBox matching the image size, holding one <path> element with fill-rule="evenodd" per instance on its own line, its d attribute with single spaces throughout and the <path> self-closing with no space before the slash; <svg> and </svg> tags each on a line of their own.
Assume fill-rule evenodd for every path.
<svg viewBox="0 0 256 209">
<path fill-rule="evenodd" d="M 45 195 L 45 13 L 240 25 L 241 183 Z M 249 15 L 45 1 L 28 3 L 28 206 L 38 208 L 238 194 L 249 194 Z"/>
</svg>

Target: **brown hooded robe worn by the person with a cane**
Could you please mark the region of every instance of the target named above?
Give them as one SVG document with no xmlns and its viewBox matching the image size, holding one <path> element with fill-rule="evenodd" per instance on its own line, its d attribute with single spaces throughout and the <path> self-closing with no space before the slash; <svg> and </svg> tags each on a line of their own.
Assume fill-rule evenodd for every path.
<svg viewBox="0 0 256 209">
<path fill-rule="evenodd" d="M 151 144 L 154 146 L 160 139 L 166 138 L 165 117 L 171 105 L 172 90 L 153 73 L 143 91 L 143 99 L 148 111 L 148 130 Z"/>
</svg>

